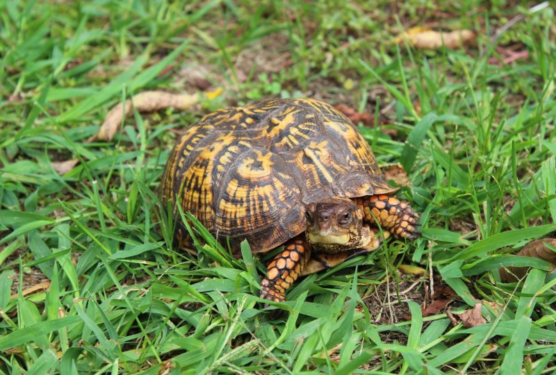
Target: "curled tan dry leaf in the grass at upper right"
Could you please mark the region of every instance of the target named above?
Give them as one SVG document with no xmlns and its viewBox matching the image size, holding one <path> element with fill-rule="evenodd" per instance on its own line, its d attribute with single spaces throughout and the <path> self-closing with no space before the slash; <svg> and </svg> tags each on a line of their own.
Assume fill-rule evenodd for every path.
<svg viewBox="0 0 556 375">
<path fill-rule="evenodd" d="M 404 40 L 407 40 L 409 44 L 418 49 L 437 49 L 440 47 L 457 49 L 473 42 L 475 38 L 477 38 L 477 34 L 471 30 L 443 32 L 416 27 L 398 35 L 394 42 L 401 44 Z"/>
</svg>

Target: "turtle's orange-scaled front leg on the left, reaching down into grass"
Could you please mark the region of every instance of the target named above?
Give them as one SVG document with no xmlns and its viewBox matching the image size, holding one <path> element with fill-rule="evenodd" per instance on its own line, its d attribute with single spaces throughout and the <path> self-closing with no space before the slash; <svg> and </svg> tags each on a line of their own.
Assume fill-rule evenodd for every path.
<svg viewBox="0 0 556 375">
<path fill-rule="evenodd" d="M 300 276 L 310 256 L 311 250 L 301 238 L 286 242 L 284 250 L 268 263 L 266 277 L 261 282 L 261 298 L 286 301 L 286 289 Z"/>
</svg>

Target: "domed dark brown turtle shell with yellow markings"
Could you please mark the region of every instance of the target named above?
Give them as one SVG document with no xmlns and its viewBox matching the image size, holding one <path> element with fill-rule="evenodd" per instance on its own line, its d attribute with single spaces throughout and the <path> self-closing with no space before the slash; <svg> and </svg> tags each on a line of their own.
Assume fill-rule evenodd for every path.
<svg viewBox="0 0 556 375">
<path fill-rule="evenodd" d="M 363 136 L 336 108 L 312 99 L 217 110 L 177 140 L 161 194 L 238 253 L 270 251 L 305 230 L 305 206 L 391 188 Z M 174 206 L 175 208 L 175 206 Z"/>
</svg>

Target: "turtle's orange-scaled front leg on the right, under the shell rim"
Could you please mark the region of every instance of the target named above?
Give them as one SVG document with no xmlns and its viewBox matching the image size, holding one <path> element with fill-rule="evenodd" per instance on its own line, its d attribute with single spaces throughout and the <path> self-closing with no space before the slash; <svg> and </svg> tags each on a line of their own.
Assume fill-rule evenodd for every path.
<svg viewBox="0 0 556 375">
<path fill-rule="evenodd" d="M 390 231 L 395 238 L 416 240 L 421 235 L 417 228 L 419 215 L 406 201 L 377 194 L 358 198 L 357 205 L 362 208 L 368 222 L 374 223 L 376 218 L 380 226 Z"/>
</svg>

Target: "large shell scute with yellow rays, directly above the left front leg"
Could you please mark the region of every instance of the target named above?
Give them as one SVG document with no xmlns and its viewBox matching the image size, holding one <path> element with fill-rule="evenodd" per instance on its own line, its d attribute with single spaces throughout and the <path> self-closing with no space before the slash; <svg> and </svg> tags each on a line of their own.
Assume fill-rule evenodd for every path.
<svg viewBox="0 0 556 375">
<path fill-rule="evenodd" d="M 252 147 L 227 167 L 215 192 L 218 238 L 229 236 L 233 244 L 247 238 L 257 251 L 288 240 L 291 231 L 303 231 L 301 190 L 276 153 Z"/>
</svg>

